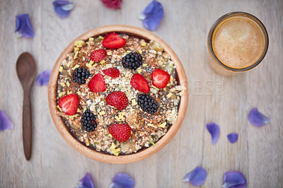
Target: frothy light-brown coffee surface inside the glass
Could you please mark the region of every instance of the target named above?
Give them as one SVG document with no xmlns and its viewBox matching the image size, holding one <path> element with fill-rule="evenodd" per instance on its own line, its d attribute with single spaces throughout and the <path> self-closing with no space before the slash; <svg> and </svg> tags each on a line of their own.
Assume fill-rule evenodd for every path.
<svg viewBox="0 0 283 188">
<path fill-rule="evenodd" d="M 243 69 L 260 59 L 265 48 L 265 39 L 253 20 L 233 17 L 224 20 L 214 30 L 212 47 L 223 64 L 234 69 Z"/>
</svg>

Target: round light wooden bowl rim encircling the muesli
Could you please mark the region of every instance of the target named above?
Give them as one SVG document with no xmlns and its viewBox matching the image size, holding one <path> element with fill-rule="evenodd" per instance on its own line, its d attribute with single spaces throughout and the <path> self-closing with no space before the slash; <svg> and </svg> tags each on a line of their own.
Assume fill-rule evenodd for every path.
<svg viewBox="0 0 283 188">
<path fill-rule="evenodd" d="M 67 54 L 72 52 L 74 50 L 74 41 L 76 40 L 88 40 L 89 37 L 98 36 L 98 35 L 106 35 L 106 33 L 110 32 L 116 32 L 116 33 L 125 33 L 127 35 L 132 35 L 135 37 L 143 38 L 144 40 L 155 40 L 156 42 L 159 42 L 162 46 L 164 51 L 168 52 L 171 56 L 171 60 L 175 63 L 176 71 L 178 74 L 178 81 L 179 85 L 185 86 L 187 90 L 185 90 L 184 95 L 181 96 L 180 104 L 179 104 L 179 112 L 178 112 L 178 119 L 171 126 L 170 129 L 168 129 L 168 132 L 161 137 L 156 142 L 156 147 L 150 146 L 149 148 L 142 149 L 141 151 L 138 151 L 137 153 L 132 153 L 129 155 L 108 155 L 102 152 L 98 152 L 93 148 L 85 146 L 83 143 L 81 143 L 79 140 L 74 138 L 69 133 L 68 128 L 65 126 L 64 122 L 62 121 L 62 118 L 57 116 L 57 101 L 56 101 L 56 95 L 57 95 L 57 78 L 59 74 L 59 66 L 61 62 L 67 58 Z M 180 128 L 183 119 L 185 118 L 185 114 L 187 111 L 187 102 L 188 102 L 188 87 L 187 87 L 187 77 L 185 75 L 185 71 L 183 69 L 183 66 L 178 59 L 177 55 L 171 47 L 169 47 L 166 42 L 161 40 L 159 37 L 154 35 L 153 33 L 150 33 L 147 30 L 143 30 L 141 28 L 135 28 L 133 26 L 129 25 L 106 25 L 100 28 L 96 28 L 93 30 L 89 30 L 86 33 L 83 33 L 83 35 L 77 37 L 75 40 L 73 40 L 60 54 L 59 58 L 57 59 L 50 76 L 50 82 L 48 86 L 48 102 L 50 107 L 50 113 L 53 119 L 53 122 L 55 124 L 55 127 L 61 134 L 61 136 L 71 145 L 76 151 L 79 151 L 83 155 L 86 155 L 88 158 L 92 158 L 94 160 L 99 160 L 104 163 L 132 163 L 138 160 L 142 160 L 144 158 L 147 158 L 157 151 L 161 150 L 166 144 L 173 139 L 173 136 L 177 133 L 178 129 Z"/>
</svg>

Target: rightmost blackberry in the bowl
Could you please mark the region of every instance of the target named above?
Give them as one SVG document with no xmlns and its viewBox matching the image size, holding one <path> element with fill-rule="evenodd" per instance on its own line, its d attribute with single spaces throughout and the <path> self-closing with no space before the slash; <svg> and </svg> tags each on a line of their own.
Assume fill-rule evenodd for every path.
<svg viewBox="0 0 283 188">
<path fill-rule="evenodd" d="M 150 114 L 154 114 L 159 106 L 154 98 L 145 94 L 139 94 L 137 104 L 144 110 L 144 112 L 149 112 Z"/>
</svg>

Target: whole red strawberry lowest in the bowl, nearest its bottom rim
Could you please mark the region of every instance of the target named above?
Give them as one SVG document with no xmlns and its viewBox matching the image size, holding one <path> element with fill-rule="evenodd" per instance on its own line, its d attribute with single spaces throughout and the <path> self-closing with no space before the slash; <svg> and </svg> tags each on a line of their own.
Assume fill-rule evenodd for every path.
<svg viewBox="0 0 283 188">
<path fill-rule="evenodd" d="M 128 124 L 112 124 L 108 130 L 117 141 L 127 141 L 131 136 L 131 127 Z"/>
</svg>

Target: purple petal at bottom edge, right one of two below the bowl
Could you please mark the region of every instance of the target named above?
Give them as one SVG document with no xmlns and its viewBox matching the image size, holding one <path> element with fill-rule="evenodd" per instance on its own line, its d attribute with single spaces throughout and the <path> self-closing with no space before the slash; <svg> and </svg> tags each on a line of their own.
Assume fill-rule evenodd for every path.
<svg viewBox="0 0 283 188">
<path fill-rule="evenodd" d="M 113 177 L 109 188 L 132 188 L 134 187 L 134 180 L 125 173 L 118 173 Z"/>
</svg>

